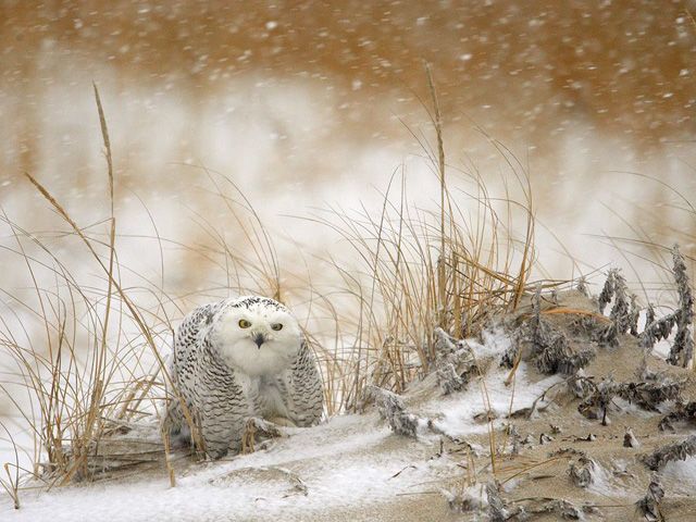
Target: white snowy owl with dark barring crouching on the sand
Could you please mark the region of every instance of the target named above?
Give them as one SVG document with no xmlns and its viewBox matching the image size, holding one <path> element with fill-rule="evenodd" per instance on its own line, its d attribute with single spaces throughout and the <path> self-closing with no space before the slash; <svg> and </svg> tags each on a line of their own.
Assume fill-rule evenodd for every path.
<svg viewBox="0 0 696 522">
<path fill-rule="evenodd" d="M 212 458 L 239 450 L 250 417 L 310 426 L 322 415 L 313 355 L 297 320 L 273 299 L 247 296 L 195 309 L 176 332 L 169 371 Z M 179 400 L 170 401 L 164 426 L 190 436 Z"/>
</svg>

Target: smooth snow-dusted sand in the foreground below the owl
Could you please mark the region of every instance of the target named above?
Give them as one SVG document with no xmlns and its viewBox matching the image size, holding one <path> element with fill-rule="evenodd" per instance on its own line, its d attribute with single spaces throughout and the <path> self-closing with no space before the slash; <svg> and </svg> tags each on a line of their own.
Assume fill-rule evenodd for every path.
<svg viewBox="0 0 696 522">
<path fill-rule="evenodd" d="M 21 510 L 8 509 L 5 502 L 0 513 L 3 520 L 55 522 L 219 520 L 231 513 L 244 520 L 279 513 L 284 520 L 301 520 L 303 513 L 326 507 L 370 504 L 422 477 L 422 473 L 401 473 L 391 478 L 411 463 L 405 451 L 369 452 L 395 436 L 375 422 L 375 415 L 346 415 L 313 430 L 295 430 L 269 450 L 195 467 L 178 477 L 174 488 L 162 473 L 156 478 L 27 494 Z M 273 473 L 278 469 L 286 471 Z M 307 496 L 282 478 L 293 473 L 307 486 Z"/>
</svg>

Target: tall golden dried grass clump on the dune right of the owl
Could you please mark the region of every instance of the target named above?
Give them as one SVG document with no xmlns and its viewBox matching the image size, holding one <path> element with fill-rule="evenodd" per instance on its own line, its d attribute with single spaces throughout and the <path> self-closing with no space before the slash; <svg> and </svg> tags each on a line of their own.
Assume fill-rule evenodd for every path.
<svg viewBox="0 0 696 522">
<path fill-rule="evenodd" d="M 406 174 L 395 172 L 380 214 L 331 209 L 312 219 L 335 231 L 361 261 L 356 268 L 328 260 L 345 283 L 341 297 L 352 301 L 344 308 L 349 313 L 333 308 L 326 313 L 352 337 L 350 346 L 335 352 L 341 364 L 340 380 L 331 390 L 334 411 L 359 408 L 368 386 L 401 394 L 410 382 L 436 369 L 447 389 L 461 387 L 459 369 L 442 364 L 438 357 L 437 328 L 456 339 L 475 336 L 490 318 L 513 310 L 530 289 L 534 210 L 526 171 L 490 139 L 521 194 L 513 198 L 506 179 L 505 197 L 496 198 L 478 172 L 448 165 L 432 85 L 431 95 L 436 145 L 431 148 L 413 136 L 435 174 L 433 184 L 419 190 L 436 192 L 437 208 L 411 203 Z M 456 186 L 472 188 L 456 194 Z"/>
</svg>

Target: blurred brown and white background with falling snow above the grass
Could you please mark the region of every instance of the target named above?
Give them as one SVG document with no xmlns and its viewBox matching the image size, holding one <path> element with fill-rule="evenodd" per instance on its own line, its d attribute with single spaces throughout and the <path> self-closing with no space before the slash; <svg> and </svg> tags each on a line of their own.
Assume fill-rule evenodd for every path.
<svg viewBox="0 0 696 522">
<path fill-rule="evenodd" d="M 36 197 L 27 171 L 98 219 L 94 80 L 121 199 L 136 191 L 156 211 L 165 201 L 165 215 L 166 201 L 194 204 L 182 167 L 194 163 L 232 176 L 270 215 L 353 196 L 357 206 L 365 183 L 385 185 L 423 153 L 405 124 L 432 139 L 430 62 L 453 166 L 497 175 L 481 127 L 529 165 L 540 217 L 567 235 L 611 231 L 616 216 L 597 210 L 607 203 L 658 231 L 668 215 L 633 206 L 669 207 L 673 195 L 613 171 L 696 188 L 689 7 L 3 0 L 0 203 L 20 212 Z"/>
</svg>

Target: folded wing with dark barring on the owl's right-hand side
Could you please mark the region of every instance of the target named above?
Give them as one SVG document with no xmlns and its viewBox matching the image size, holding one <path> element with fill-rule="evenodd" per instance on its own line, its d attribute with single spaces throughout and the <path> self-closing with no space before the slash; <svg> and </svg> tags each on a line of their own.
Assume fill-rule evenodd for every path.
<svg viewBox="0 0 696 522">
<path fill-rule="evenodd" d="M 298 426 L 311 426 L 322 418 L 322 381 L 314 355 L 302 336 L 301 347 L 287 380 L 290 415 Z"/>
</svg>

